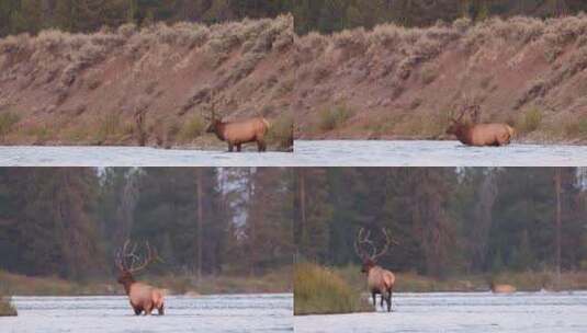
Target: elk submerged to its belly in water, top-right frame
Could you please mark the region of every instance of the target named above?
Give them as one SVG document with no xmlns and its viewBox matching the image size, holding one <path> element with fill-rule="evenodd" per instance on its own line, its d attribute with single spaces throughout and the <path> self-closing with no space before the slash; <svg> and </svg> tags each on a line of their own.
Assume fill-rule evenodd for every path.
<svg viewBox="0 0 587 333">
<path fill-rule="evenodd" d="M 467 146 L 507 146 L 515 135 L 513 128 L 507 124 L 469 124 L 463 122 L 463 116 L 469 108 L 474 110 L 475 118 L 479 106 L 465 107 L 459 117 L 450 117 L 450 126 L 447 134 L 454 135 L 459 141 Z"/>
</svg>

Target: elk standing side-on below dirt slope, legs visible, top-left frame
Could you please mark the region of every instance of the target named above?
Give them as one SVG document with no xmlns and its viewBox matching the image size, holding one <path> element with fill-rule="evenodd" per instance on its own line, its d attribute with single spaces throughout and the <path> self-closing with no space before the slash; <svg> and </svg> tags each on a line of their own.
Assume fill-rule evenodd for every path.
<svg viewBox="0 0 587 333">
<path fill-rule="evenodd" d="M 241 145 L 248 142 L 257 142 L 258 151 L 266 151 L 264 137 L 269 128 L 269 122 L 262 116 L 238 122 L 223 122 L 222 118 L 216 118 L 215 105 L 212 104 L 212 117 L 206 133 L 213 133 L 219 140 L 226 141 L 229 152 L 233 152 L 235 146 L 237 151 L 240 151 Z"/>
</svg>

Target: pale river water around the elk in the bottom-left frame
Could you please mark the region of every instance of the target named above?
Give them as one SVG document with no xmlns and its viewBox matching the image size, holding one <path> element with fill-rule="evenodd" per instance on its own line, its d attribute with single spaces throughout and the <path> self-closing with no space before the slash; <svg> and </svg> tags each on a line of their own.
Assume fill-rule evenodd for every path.
<svg viewBox="0 0 587 333">
<path fill-rule="evenodd" d="M 166 298 L 162 317 L 136 317 L 126 297 L 14 297 L 1 332 L 291 332 L 292 295 Z"/>
</svg>

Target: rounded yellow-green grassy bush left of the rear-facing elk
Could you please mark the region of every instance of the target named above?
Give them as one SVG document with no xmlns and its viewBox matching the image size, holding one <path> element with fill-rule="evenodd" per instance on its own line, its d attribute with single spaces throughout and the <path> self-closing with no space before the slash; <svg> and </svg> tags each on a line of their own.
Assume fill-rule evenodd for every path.
<svg viewBox="0 0 587 333">
<path fill-rule="evenodd" d="M 339 275 L 315 264 L 295 265 L 294 314 L 328 314 L 373 311 Z"/>
</svg>

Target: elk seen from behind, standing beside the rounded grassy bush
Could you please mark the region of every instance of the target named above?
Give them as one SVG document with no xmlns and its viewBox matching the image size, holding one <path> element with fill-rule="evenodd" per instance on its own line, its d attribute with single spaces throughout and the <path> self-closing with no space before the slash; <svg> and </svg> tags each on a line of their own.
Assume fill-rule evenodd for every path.
<svg viewBox="0 0 587 333">
<path fill-rule="evenodd" d="M 390 244 L 393 242 L 387 230 L 382 229 L 382 232 L 385 237 L 385 245 L 377 252 L 373 241 L 370 240 L 371 231 L 365 233 L 364 228 L 359 229 L 359 233 L 354 240 L 354 251 L 357 252 L 357 255 L 361 257 L 363 263 L 361 273 L 366 274 L 366 285 L 373 298 L 373 307 L 376 307 L 376 295 L 380 294 L 381 307 L 384 308 L 383 301 L 385 301 L 387 303 L 387 312 L 391 312 L 395 275 L 375 264 L 376 260 L 387 252 Z M 364 244 L 371 248 L 371 254 L 368 254 L 368 252 L 362 249 Z"/>
</svg>

